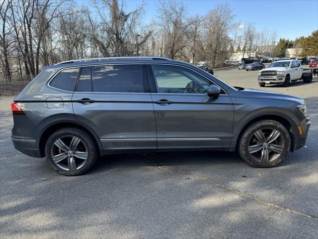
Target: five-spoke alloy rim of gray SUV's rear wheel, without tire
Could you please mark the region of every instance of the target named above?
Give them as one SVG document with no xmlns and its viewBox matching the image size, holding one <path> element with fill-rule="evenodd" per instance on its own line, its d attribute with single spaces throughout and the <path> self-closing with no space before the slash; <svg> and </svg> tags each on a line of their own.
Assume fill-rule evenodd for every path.
<svg viewBox="0 0 318 239">
<path fill-rule="evenodd" d="M 76 136 L 63 136 L 51 148 L 53 162 L 61 169 L 75 171 L 84 166 L 88 158 L 87 147 Z"/>
</svg>

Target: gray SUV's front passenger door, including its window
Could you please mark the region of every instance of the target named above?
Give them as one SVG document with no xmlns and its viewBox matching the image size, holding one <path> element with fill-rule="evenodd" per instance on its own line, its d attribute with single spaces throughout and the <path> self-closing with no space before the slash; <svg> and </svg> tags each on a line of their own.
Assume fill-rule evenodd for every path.
<svg viewBox="0 0 318 239">
<path fill-rule="evenodd" d="M 228 149 L 234 117 L 229 95 L 223 92 L 218 99 L 208 97 L 213 82 L 189 68 L 164 64 L 147 67 L 157 88 L 152 99 L 158 149 Z"/>
</svg>

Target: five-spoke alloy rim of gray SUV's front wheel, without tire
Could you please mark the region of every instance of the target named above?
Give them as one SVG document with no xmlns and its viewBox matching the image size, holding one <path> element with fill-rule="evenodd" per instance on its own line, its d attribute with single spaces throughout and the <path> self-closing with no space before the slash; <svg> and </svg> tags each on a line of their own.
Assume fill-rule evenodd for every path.
<svg viewBox="0 0 318 239">
<path fill-rule="evenodd" d="M 277 159 L 285 149 L 285 139 L 275 128 L 257 129 L 249 138 L 248 153 L 261 163 Z"/>
</svg>

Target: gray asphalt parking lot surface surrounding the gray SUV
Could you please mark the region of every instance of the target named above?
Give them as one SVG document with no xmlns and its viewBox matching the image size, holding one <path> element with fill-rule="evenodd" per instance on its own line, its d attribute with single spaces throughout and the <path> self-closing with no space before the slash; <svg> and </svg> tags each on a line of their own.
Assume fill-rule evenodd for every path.
<svg viewBox="0 0 318 239">
<path fill-rule="evenodd" d="M 0 238 L 317 238 L 318 77 L 261 88 L 257 71 L 215 76 L 304 98 L 306 146 L 268 169 L 232 152 L 167 152 L 107 156 L 65 177 L 13 148 L 13 97 L 1 97 Z"/>
</svg>

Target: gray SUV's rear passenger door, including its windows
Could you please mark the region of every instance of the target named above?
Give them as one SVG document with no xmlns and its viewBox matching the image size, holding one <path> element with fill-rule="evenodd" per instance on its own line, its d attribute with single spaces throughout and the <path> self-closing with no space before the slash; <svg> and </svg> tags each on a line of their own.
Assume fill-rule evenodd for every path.
<svg viewBox="0 0 318 239">
<path fill-rule="evenodd" d="M 82 67 L 72 101 L 76 118 L 98 134 L 105 150 L 157 148 L 145 65 Z"/>
</svg>

